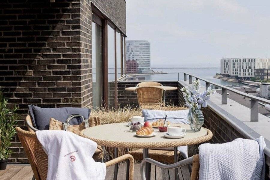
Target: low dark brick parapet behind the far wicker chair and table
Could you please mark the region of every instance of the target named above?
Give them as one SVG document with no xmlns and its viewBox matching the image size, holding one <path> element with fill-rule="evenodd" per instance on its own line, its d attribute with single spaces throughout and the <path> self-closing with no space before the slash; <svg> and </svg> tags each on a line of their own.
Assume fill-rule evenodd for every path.
<svg viewBox="0 0 270 180">
<path fill-rule="evenodd" d="M 158 81 L 157 81 L 158 82 Z M 125 88 L 134 87 L 139 82 L 136 81 L 119 81 L 118 82 L 118 103 L 121 107 L 131 104 L 132 106 L 138 105 L 137 94 L 132 91 L 126 91 Z M 159 82 L 164 86 L 175 86 L 177 87 L 177 82 Z M 178 91 L 168 91 L 165 93 L 166 104 L 178 105 Z"/>
</svg>

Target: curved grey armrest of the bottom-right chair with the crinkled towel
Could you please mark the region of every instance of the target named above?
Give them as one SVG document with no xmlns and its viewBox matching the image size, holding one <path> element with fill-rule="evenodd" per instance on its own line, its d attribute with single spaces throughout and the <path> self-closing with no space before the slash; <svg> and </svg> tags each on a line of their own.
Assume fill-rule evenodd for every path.
<svg viewBox="0 0 270 180">
<path fill-rule="evenodd" d="M 150 164 L 153 164 L 157 167 L 160 167 L 160 168 L 163 168 L 163 169 L 175 169 L 175 168 L 178 168 L 178 167 L 182 167 L 184 165 L 187 165 L 187 164 L 190 164 L 192 163 L 193 161 L 193 157 L 190 157 L 190 158 L 187 158 L 187 159 L 184 159 L 182 161 L 179 161 L 177 163 L 174 163 L 174 164 L 162 164 L 158 161 L 155 161 L 151 158 L 144 158 L 142 163 L 141 163 L 141 167 L 140 167 L 140 172 L 141 172 L 141 178 L 142 180 L 146 180 L 146 177 L 145 177 L 145 165 L 146 163 L 150 163 Z"/>
</svg>

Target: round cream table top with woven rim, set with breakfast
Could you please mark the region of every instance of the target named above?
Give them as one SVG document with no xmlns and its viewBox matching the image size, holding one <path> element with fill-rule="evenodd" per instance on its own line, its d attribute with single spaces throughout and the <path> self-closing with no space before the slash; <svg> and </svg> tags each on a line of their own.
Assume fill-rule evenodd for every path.
<svg viewBox="0 0 270 180">
<path fill-rule="evenodd" d="M 210 140 L 213 136 L 212 132 L 206 128 L 194 132 L 190 130 L 190 126 L 186 124 L 180 125 L 186 128 L 187 135 L 180 139 L 169 139 L 164 137 L 164 133 L 160 133 L 154 128 L 157 135 L 154 137 L 137 137 L 135 132 L 128 132 L 127 122 L 113 123 L 106 125 L 98 125 L 84 129 L 80 132 L 80 136 L 89 138 L 100 146 L 108 146 L 114 148 L 166 148 L 176 146 L 186 146 L 200 144 Z"/>
</svg>

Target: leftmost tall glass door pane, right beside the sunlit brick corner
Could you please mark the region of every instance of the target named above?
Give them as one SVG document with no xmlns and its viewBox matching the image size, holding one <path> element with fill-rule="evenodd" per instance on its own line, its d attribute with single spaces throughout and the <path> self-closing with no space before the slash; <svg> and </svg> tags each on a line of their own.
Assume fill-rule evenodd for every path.
<svg viewBox="0 0 270 180">
<path fill-rule="evenodd" d="M 92 22 L 93 107 L 102 104 L 102 27 Z"/>
</svg>

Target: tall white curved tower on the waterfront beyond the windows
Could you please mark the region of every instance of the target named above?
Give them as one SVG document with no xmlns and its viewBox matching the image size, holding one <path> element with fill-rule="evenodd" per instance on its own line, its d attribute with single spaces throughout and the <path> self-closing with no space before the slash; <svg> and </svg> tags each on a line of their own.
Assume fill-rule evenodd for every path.
<svg viewBox="0 0 270 180">
<path fill-rule="evenodd" d="M 126 61 L 137 61 L 139 72 L 150 71 L 150 43 L 149 41 L 126 41 Z"/>
</svg>

